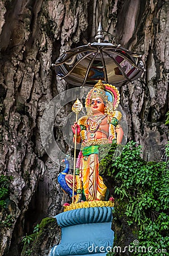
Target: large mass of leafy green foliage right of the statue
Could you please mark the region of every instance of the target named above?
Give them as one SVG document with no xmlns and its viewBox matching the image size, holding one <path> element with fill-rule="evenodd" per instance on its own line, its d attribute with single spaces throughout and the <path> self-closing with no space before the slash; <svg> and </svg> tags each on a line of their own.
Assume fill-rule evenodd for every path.
<svg viewBox="0 0 169 256">
<path fill-rule="evenodd" d="M 167 146 L 166 155 L 168 151 Z M 108 170 L 108 175 L 113 177 L 116 184 L 116 202 L 123 204 L 122 214 L 128 218 L 128 225 L 134 224 L 138 227 L 139 246 L 152 246 L 154 250 L 167 249 L 168 161 L 145 162 L 141 158 L 141 147 L 134 142 L 126 144 L 115 160 L 108 157 L 107 163 L 105 159 L 100 162 L 102 173 L 104 167 L 104 170 Z M 137 251 L 132 255 L 142 254 Z M 152 253 L 147 252 L 144 255 L 149 256 Z"/>
</svg>

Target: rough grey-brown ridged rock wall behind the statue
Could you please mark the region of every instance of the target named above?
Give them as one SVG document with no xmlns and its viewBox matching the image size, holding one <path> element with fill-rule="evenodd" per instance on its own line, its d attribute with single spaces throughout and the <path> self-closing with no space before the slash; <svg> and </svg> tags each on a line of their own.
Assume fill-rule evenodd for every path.
<svg viewBox="0 0 169 256">
<path fill-rule="evenodd" d="M 1 222 L 0 254 L 19 255 L 24 234 L 60 210 L 63 194 L 56 163 L 45 153 L 40 121 L 53 97 L 72 88 L 56 80 L 51 67 L 70 48 L 94 42 L 99 21 L 105 39 L 143 55 L 145 73 L 120 88 L 128 140 L 143 146 L 146 160 L 160 160 L 168 140 L 168 1 L 160 0 L 0 0 L 0 174 L 12 175 L 10 203 Z M 54 123 L 70 113 L 66 106 Z M 67 148 L 65 149 L 65 151 Z"/>
</svg>

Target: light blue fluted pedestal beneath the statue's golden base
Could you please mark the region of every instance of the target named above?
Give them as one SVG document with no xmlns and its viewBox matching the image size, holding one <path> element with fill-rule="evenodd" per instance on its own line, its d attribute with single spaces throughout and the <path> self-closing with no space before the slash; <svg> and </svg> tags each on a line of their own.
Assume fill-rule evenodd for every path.
<svg viewBox="0 0 169 256">
<path fill-rule="evenodd" d="M 69 210 L 58 214 L 62 228 L 61 243 L 50 250 L 49 256 L 104 256 L 111 250 L 114 232 L 111 230 L 112 207 L 92 207 Z"/>
</svg>

